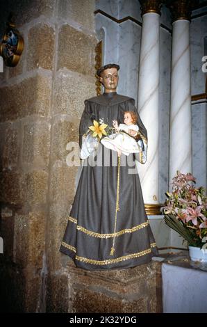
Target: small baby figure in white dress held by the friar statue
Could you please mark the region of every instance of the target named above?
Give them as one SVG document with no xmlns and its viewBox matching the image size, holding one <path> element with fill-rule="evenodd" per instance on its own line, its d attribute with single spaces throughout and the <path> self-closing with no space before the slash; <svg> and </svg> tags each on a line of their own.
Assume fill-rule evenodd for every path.
<svg viewBox="0 0 207 327">
<path fill-rule="evenodd" d="M 142 150 L 141 146 L 130 136 L 131 131 L 136 132 L 133 136 L 138 134 L 137 121 L 137 115 L 133 111 L 124 111 L 124 124 L 118 125 L 117 120 L 113 120 L 116 133 L 102 138 L 101 143 L 108 149 L 117 151 L 119 156 L 122 153 L 126 156 L 130 153 L 139 153 Z"/>
</svg>

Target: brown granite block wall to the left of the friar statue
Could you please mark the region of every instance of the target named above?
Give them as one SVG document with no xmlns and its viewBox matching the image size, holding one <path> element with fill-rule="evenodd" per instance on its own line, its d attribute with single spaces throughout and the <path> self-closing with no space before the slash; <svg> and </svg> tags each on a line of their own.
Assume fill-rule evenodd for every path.
<svg viewBox="0 0 207 327">
<path fill-rule="evenodd" d="M 0 35 L 13 11 L 25 42 L 19 64 L 0 74 L 1 310 L 67 312 L 58 249 L 76 168 L 66 164 L 66 145 L 78 141 L 83 101 L 95 95 L 94 0 L 0 6 Z"/>
</svg>

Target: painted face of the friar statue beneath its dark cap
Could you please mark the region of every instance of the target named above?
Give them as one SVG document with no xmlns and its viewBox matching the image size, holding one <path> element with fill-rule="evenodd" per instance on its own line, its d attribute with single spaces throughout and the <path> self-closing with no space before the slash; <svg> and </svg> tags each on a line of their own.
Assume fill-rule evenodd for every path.
<svg viewBox="0 0 207 327">
<path fill-rule="evenodd" d="M 104 85 L 106 93 L 116 92 L 119 81 L 117 68 L 108 68 L 101 72 L 99 81 Z"/>
</svg>

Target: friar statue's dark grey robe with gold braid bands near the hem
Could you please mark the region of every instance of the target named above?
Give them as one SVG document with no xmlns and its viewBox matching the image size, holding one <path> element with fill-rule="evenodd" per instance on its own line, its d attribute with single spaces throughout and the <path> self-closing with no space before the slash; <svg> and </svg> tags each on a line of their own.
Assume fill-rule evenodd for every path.
<svg viewBox="0 0 207 327">
<path fill-rule="evenodd" d="M 134 111 L 138 115 L 134 99 L 104 93 L 85 100 L 80 143 L 93 120 L 104 119 L 109 126 L 113 126 L 113 120 L 120 124 L 124 122 L 124 111 Z M 136 159 L 144 163 L 147 130 L 139 115 L 138 126 L 143 154 L 138 154 Z M 135 165 L 135 154 L 129 157 L 122 154 L 119 168 L 117 152 L 99 143 L 95 159 L 99 161 L 101 155 L 107 159 L 108 166 L 87 166 L 90 157 L 83 161 L 60 251 L 72 257 L 76 266 L 88 270 L 124 269 L 145 264 L 158 252 L 144 210 L 139 175 L 129 173 L 132 167 L 128 162 L 131 159 Z"/>
</svg>

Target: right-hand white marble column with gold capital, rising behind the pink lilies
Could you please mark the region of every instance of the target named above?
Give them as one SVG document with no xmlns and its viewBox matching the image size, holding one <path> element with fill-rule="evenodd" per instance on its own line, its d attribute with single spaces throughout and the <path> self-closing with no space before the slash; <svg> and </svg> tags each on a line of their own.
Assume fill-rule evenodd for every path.
<svg viewBox="0 0 207 327">
<path fill-rule="evenodd" d="M 176 175 L 192 172 L 191 83 L 190 83 L 190 5 L 192 1 L 174 1 L 172 77 L 169 129 L 169 183 Z M 170 186 L 170 184 L 169 184 Z"/>
</svg>

